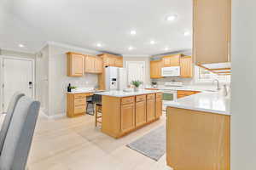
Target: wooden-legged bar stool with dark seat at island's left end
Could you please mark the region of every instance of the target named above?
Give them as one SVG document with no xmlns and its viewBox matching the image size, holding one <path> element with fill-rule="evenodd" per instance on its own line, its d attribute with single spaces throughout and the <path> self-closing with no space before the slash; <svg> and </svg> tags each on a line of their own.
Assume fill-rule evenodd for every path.
<svg viewBox="0 0 256 170">
<path fill-rule="evenodd" d="M 102 95 L 94 94 L 92 96 L 92 102 L 96 105 L 95 109 L 95 126 L 97 127 L 98 123 L 102 124 Z"/>
</svg>

